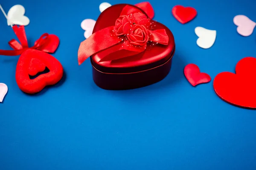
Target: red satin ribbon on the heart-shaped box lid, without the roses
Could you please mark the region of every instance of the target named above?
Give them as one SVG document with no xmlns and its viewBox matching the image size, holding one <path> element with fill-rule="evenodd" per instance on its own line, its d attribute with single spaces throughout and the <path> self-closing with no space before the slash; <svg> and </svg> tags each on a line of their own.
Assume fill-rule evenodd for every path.
<svg viewBox="0 0 256 170">
<path fill-rule="evenodd" d="M 138 12 L 138 9 L 131 8 L 131 6 L 125 6 L 120 16 L 134 12 Z M 104 56 L 99 62 L 104 62 L 129 57 L 145 51 L 146 44 L 144 46 L 131 45 L 125 36 L 116 36 L 115 32 L 113 32 L 113 28 L 114 26 L 110 26 L 99 30 L 81 42 L 78 51 L 79 65 L 91 55 L 97 53 L 101 53 Z M 166 34 L 165 29 L 148 30 L 148 33 L 148 41 L 168 45 L 169 37 Z"/>
</svg>

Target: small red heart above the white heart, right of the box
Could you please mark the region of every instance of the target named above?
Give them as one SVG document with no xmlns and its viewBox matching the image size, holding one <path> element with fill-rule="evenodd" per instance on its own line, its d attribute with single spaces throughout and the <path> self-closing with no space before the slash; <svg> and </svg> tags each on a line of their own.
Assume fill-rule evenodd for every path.
<svg viewBox="0 0 256 170">
<path fill-rule="evenodd" d="M 184 7 L 181 5 L 172 8 L 172 14 L 180 23 L 185 24 L 193 20 L 197 15 L 197 11 L 192 7 Z"/>
</svg>

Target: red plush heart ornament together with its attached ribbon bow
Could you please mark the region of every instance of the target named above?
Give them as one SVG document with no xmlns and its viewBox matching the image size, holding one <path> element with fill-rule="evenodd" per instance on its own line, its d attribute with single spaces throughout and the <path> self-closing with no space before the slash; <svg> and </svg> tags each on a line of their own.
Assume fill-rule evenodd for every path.
<svg viewBox="0 0 256 170">
<path fill-rule="evenodd" d="M 58 37 L 45 33 L 35 41 L 34 46 L 29 48 L 24 26 L 13 26 L 12 28 L 20 43 L 17 40 L 9 41 L 9 45 L 14 50 L 0 50 L 0 55 L 15 56 L 21 54 L 16 67 L 16 81 L 20 90 L 34 94 L 43 90 L 47 85 L 54 85 L 59 82 L 63 76 L 62 65 L 57 59 L 47 54 L 55 52 L 58 48 Z M 30 79 L 29 76 L 43 72 L 46 67 L 49 69 L 48 73 Z"/>
</svg>

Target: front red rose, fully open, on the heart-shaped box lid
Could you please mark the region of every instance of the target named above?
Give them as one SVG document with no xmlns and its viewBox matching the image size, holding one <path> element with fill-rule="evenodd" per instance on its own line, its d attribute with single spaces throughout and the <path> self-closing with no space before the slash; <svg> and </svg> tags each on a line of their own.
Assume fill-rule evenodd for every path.
<svg viewBox="0 0 256 170">
<path fill-rule="evenodd" d="M 148 30 L 143 25 L 134 24 L 127 38 L 133 45 L 145 45 L 148 42 Z"/>
</svg>

